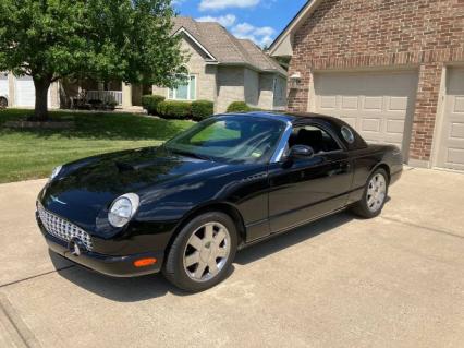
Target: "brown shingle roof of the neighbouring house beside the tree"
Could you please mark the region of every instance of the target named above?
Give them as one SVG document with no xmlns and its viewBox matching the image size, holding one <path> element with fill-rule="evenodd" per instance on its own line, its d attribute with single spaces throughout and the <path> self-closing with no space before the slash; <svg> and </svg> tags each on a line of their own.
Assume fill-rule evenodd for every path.
<svg viewBox="0 0 464 348">
<path fill-rule="evenodd" d="M 182 27 L 205 47 L 219 64 L 246 64 L 259 71 L 286 75 L 286 71 L 253 41 L 236 38 L 219 23 L 196 22 L 192 17 L 175 17 L 173 33 Z"/>
</svg>

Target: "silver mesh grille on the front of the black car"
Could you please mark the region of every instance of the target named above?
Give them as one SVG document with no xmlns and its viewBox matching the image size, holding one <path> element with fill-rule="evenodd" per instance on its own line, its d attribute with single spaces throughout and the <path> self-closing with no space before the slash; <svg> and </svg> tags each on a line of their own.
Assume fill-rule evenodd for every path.
<svg viewBox="0 0 464 348">
<path fill-rule="evenodd" d="M 86 231 L 48 212 L 40 203 L 37 205 L 37 212 L 48 233 L 66 242 L 78 239 L 87 250 L 93 250 L 91 237 Z"/>
</svg>

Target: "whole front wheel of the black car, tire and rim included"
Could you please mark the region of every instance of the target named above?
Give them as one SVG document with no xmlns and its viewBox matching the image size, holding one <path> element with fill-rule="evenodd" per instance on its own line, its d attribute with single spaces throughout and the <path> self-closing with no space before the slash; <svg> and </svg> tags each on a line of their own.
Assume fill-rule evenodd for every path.
<svg viewBox="0 0 464 348">
<path fill-rule="evenodd" d="M 228 215 L 219 212 L 202 214 L 175 237 L 162 273 L 182 290 L 204 291 L 225 278 L 236 248 L 236 227 Z"/>
</svg>

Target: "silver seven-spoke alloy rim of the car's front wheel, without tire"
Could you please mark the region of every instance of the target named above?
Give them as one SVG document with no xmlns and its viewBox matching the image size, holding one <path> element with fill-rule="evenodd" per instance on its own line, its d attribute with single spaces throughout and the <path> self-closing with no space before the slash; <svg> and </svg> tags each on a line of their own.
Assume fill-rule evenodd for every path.
<svg viewBox="0 0 464 348">
<path fill-rule="evenodd" d="M 219 223 L 205 224 L 187 241 L 183 255 L 184 269 L 192 280 L 208 281 L 224 267 L 230 251 L 229 230 Z"/>
</svg>

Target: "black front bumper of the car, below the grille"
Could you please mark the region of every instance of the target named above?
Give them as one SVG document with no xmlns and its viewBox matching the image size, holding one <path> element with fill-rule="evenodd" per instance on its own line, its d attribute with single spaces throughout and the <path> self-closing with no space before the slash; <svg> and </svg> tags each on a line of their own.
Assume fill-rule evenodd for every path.
<svg viewBox="0 0 464 348">
<path fill-rule="evenodd" d="M 75 255 L 66 241 L 48 233 L 39 218 L 37 218 L 37 223 L 50 250 L 77 265 L 113 277 L 136 277 L 157 273 L 161 269 L 164 256 L 163 252 L 147 252 L 134 255 L 113 256 L 82 250 L 80 255 Z M 136 267 L 134 265 L 135 261 L 146 257 L 156 259 L 157 262 L 145 267 Z"/>
</svg>

